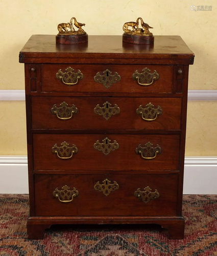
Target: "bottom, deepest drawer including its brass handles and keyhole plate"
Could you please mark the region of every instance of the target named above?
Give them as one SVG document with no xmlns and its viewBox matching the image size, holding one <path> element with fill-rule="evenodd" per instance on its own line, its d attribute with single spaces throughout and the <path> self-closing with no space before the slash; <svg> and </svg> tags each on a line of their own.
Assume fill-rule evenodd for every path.
<svg viewBox="0 0 217 256">
<path fill-rule="evenodd" d="M 178 177 L 176 174 L 36 174 L 34 175 L 35 214 L 36 216 L 174 216 Z"/>
</svg>

